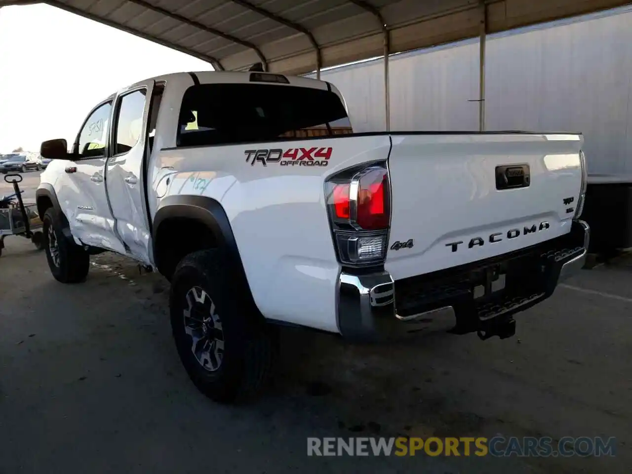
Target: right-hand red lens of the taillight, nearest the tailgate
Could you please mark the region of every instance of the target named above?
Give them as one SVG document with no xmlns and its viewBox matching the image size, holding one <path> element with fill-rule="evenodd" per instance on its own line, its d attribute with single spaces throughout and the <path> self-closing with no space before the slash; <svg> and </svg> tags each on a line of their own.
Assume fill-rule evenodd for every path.
<svg viewBox="0 0 632 474">
<path fill-rule="evenodd" d="M 356 224 L 367 230 L 386 229 L 389 226 L 386 169 L 372 169 L 360 178 Z"/>
</svg>

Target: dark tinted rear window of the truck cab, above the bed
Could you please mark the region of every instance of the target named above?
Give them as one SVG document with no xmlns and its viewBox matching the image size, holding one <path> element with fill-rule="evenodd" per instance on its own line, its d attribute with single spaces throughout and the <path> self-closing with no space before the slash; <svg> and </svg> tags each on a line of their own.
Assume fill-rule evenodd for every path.
<svg viewBox="0 0 632 474">
<path fill-rule="evenodd" d="M 269 84 L 203 84 L 186 90 L 178 146 L 332 137 L 353 133 L 328 90 Z"/>
</svg>

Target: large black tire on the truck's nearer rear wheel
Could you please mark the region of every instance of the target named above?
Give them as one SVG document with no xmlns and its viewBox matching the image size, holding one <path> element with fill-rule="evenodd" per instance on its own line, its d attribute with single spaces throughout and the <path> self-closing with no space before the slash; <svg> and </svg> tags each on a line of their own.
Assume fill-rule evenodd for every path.
<svg viewBox="0 0 632 474">
<path fill-rule="evenodd" d="M 240 403 L 252 399 L 263 389 L 272 367 L 273 346 L 263 317 L 231 286 L 232 282 L 227 281 L 226 274 L 226 264 L 217 250 L 201 250 L 183 258 L 171 278 L 171 329 L 178 355 L 193 384 L 218 403 Z M 205 295 L 201 290 L 204 290 Z M 210 339 L 214 338 L 215 345 L 211 342 L 208 346 L 200 347 L 200 343 L 206 344 L 200 341 L 194 346 L 191 335 L 186 332 L 198 331 L 191 329 L 194 319 L 185 317 L 186 308 L 190 308 L 186 296 L 191 295 L 191 291 L 195 291 L 203 300 L 198 308 L 202 312 L 195 310 L 197 315 L 211 315 L 212 310 L 206 308 L 214 305 L 215 315 L 207 319 L 209 324 L 212 324 L 211 320 L 215 324 L 208 329 L 204 325 L 199 331 L 204 329 L 204 337 L 212 335 Z M 209 297 L 210 303 L 205 296 Z M 217 322 L 221 323 L 219 328 Z M 221 358 L 217 356 L 216 349 L 220 337 L 223 348 Z M 198 356 L 193 354 L 193 348 L 209 348 L 206 364 L 209 367 L 203 366 Z M 216 368 L 210 367 L 214 365 L 210 359 L 210 350 L 214 348 L 213 360 L 221 361 L 216 364 Z"/>
</svg>

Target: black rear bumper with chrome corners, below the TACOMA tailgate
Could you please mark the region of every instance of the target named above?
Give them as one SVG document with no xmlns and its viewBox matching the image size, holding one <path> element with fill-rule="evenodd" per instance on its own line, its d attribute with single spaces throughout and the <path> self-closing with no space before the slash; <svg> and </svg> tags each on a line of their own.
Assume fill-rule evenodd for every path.
<svg viewBox="0 0 632 474">
<path fill-rule="evenodd" d="M 559 238 L 559 250 L 535 246 L 529 252 L 542 258 L 541 273 L 537 274 L 538 288 L 525 289 L 524 294 L 514 288 L 511 295 L 499 295 L 477 303 L 472 291 L 461 291 L 457 296 L 439 298 L 433 305 L 422 305 L 419 311 L 406 310 L 398 314 L 396 301 L 398 284 L 386 271 L 372 274 L 341 272 L 339 276 L 337 324 L 339 332 L 352 341 L 391 341 L 432 327 L 435 320 L 448 320 L 451 326 L 466 321 L 469 329 L 478 331 L 482 339 L 491 336 L 509 337 L 515 331 L 512 315 L 544 301 L 557 284 L 578 272 L 586 261 L 590 229 L 583 221 L 573 221 L 571 232 Z M 489 265 L 514 258 L 511 255 L 495 258 Z M 524 258 L 524 256 L 522 257 Z M 484 267 L 486 262 L 480 262 Z M 454 269 L 459 274 L 460 269 Z M 462 276 L 462 273 L 460 274 Z M 451 295 L 456 293 L 451 293 Z M 436 299 L 436 298 L 435 298 Z M 401 305 L 403 306 L 403 305 Z M 446 328 L 447 329 L 447 328 Z"/>
</svg>

